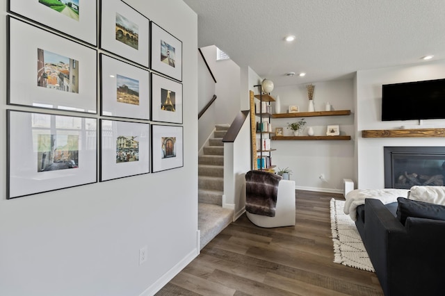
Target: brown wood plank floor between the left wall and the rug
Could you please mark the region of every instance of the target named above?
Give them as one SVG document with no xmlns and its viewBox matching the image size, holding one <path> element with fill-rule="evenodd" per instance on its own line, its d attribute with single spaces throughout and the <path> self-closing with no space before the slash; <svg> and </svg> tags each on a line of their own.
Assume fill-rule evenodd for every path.
<svg viewBox="0 0 445 296">
<path fill-rule="evenodd" d="M 373 272 L 333 263 L 330 199 L 296 190 L 296 226 L 264 229 L 242 215 L 156 295 L 383 295 Z"/>
</svg>

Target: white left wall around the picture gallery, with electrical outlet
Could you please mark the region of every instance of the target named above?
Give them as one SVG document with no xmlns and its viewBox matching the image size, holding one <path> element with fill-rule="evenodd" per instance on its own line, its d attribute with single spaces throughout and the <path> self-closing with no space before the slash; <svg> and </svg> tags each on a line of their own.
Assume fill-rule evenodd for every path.
<svg viewBox="0 0 445 296">
<path fill-rule="evenodd" d="M 32 109 L 3 98 L 0 295 L 150 295 L 198 252 L 197 15 L 181 0 L 126 2 L 182 41 L 184 167 L 6 200 L 6 109 Z M 0 51 L 4 91 L 6 26 Z M 139 266 L 145 245 L 147 262 Z"/>
</svg>

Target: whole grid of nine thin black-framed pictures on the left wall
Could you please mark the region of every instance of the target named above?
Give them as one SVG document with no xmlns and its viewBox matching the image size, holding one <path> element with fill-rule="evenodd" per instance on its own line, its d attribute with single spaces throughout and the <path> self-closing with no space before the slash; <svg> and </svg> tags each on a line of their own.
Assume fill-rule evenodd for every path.
<svg viewBox="0 0 445 296">
<path fill-rule="evenodd" d="M 122 0 L 7 13 L 7 199 L 183 167 L 181 40 Z"/>
</svg>

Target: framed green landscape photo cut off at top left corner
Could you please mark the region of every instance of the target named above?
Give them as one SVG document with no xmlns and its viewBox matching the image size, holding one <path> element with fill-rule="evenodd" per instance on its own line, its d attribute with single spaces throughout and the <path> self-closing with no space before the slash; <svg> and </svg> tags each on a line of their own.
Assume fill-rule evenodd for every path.
<svg viewBox="0 0 445 296">
<path fill-rule="evenodd" d="M 8 11 L 97 45 L 97 1 L 9 0 Z"/>
</svg>

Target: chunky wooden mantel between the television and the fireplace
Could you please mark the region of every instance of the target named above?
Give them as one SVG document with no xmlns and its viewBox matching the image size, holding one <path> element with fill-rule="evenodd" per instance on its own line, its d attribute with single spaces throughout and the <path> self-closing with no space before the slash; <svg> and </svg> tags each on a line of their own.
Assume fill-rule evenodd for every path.
<svg viewBox="0 0 445 296">
<path fill-rule="evenodd" d="M 369 129 L 362 138 L 445 138 L 445 129 Z"/>
</svg>

